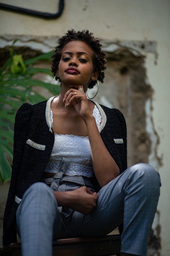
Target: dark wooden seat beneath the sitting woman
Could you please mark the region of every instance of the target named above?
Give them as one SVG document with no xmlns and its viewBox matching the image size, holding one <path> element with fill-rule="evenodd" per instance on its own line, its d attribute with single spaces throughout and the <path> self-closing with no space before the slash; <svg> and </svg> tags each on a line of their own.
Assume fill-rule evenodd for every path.
<svg viewBox="0 0 170 256">
<path fill-rule="evenodd" d="M 53 256 L 118 256 L 120 246 L 120 235 L 60 239 L 53 242 Z M 21 243 L 1 248 L 0 255 L 21 256 Z"/>
</svg>

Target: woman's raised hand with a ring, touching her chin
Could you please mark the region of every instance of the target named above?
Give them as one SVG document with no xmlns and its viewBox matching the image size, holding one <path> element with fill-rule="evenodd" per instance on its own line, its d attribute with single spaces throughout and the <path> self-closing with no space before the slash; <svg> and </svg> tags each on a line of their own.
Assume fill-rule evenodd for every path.
<svg viewBox="0 0 170 256">
<path fill-rule="evenodd" d="M 63 102 L 65 102 L 65 107 L 72 104 L 78 115 L 84 119 L 88 115 L 91 115 L 88 99 L 85 93 L 79 91 L 82 88 L 81 85 L 76 85 L 75 87 L 77 89 L 71 88 L 65 93 Z"/>
</svg>

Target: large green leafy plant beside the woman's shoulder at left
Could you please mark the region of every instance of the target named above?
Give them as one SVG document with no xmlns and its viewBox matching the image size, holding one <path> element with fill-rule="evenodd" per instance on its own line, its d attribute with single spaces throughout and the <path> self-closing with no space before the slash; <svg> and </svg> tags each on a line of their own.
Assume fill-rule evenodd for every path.
<svg viewBox="0 0 170 256">
<path fill-rule="evenodd" d="M 15 42 L 14 42 L 15 43 Z M 14 45 L 13 43 L 13 45 Z M 22 56 L 14 55 L 13 45 L 10 58 L 0 69 L 0 181 L 4 182 L 11 177 L 11 162 L 13 154 L 13 126 L 15 115 L 24 102 L 31 104 L 46 100 L 45 97 L 34 91 L 34 87 L 46 88 L 54 93 L 53 85 L 32 78 L 34 74 L 50 75 L 46 68 L 33 67 L 36 61 L 50 61 L 52 52 L 41 54 L 35 58 L 23 61 Z M 10 68 L 11 67 L 11 68 Z M 57 94 L 60 94 L 60 85 L 55 85 Z"/>
</svg>

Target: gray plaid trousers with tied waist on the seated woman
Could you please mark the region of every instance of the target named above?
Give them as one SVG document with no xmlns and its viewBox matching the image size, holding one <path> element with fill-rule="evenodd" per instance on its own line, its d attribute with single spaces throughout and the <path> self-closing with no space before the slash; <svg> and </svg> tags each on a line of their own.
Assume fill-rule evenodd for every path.
<svg viewBox="0 0 170 256">
<path fill-rule="evenodd" d="M 61 173 L 55 175 L 52 183 L 49 180 L 53 190 L 68 191 L 85 184 L 94 191 L 88 179 L 63 176 L 66 167 L 67 161 L 63 159 Z M 54 238 L 105 235 L 122 222 L 121 252 L 146 255 L 159 187 L 158 172 L 139 163 L 101 188 L 97 206 L 84 215 L 67 207 L 58 208 L 49 186 L 33 184 L 24 193 L 16 213 L 22 256 L 51 256 Z"/>
</svg>

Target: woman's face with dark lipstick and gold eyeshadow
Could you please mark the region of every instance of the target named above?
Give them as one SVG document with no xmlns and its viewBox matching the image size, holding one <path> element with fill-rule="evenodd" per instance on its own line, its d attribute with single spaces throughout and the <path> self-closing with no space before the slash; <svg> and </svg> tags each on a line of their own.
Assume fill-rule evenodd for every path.
<svg viewBox="0 0 170 256">
<path fill-rule="evenodd" d="M 96 80 L 98 73 L 93 71 L 92 49 L 82 41 L 71 41 L 62 50 L 58 69 L 63 85 L 83 85 L 87 89 L 90 80 Z"/>
</svg>

